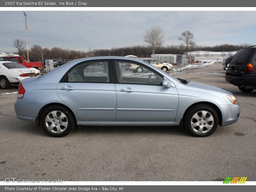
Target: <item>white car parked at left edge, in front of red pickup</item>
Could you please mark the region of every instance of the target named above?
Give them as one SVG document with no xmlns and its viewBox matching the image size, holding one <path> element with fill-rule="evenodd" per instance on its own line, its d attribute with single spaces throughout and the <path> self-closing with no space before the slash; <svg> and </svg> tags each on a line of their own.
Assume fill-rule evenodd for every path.
<svg viewBox="0 0 256 192">
<path fill-rule="evenodd" d="M 11 84 L 19 84 L 22 79 L 39 76 L 36 68 L 27 68 L 19 63 L 0 61 L 0 88 L 8 89 Z"/>
</svg>

